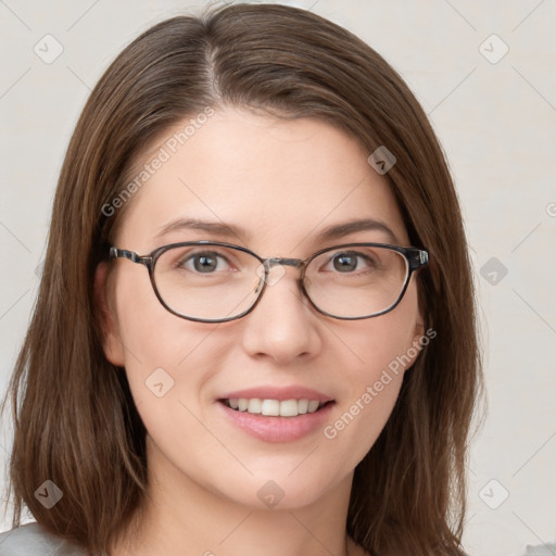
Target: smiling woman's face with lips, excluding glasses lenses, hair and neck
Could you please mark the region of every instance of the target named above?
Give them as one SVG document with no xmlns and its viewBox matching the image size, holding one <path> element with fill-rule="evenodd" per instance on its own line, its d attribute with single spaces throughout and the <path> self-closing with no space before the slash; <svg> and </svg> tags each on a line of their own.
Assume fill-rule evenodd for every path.
<svg viewBox="0 0 556 556">
<path fill-rule="evenodd" d="M 159 150 L 153 147 L 138 167 Z M 122 215 L 114 238 L 119 249 L 146 255 L 169 243 L 213 240 L 263 257 L 304 260 L 341 243 L 409 244 L 369 153 L 320 121 L 226 109 L 175 153 L 166 150 L 169 159 Z M 176 226 L 159 235 L 180 218 L 226 223 L 248 235 Z M 319 239 L 331 225 L 363 218 L 383 223 L 395 241 L 381 229 Z M 148 430 L 150 471 L 172 468 L 181 484 L 251 507 L 262 507 L 264 489 L 283 496 L 281 507 L 296 507 L 351 479 L 389 418 L 422 334 L 415 278 L 390 313 L 340 320 L 304 298 L 299 269 L 283 266 L 270 277 L 275 271 L 281 276 L 269 280 L 251 313 L 219 324 L 169 313 L 143 265 L 115 260 L 96 276 L 106 314 L 104 351 L 125 367 Z M 396 359 L 403 355 L 405 365 Z M 277 417 L 236 410 L 227 406 L 230 397 L 327 403 L 312 414 Z M 303 404 L 285 407 L 296 413 Z"/>
</svg>

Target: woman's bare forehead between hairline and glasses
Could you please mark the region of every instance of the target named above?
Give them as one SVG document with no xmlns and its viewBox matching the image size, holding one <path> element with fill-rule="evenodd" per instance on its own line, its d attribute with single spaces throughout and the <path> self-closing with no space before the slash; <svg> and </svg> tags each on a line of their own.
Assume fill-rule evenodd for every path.
<svg viewBox="0 0 556 556">
<path fill-rule="evenodd" d="M 148 173 L 148 179 L 129 201 L 118 241 L 154 249 L 164 244 L 163 228 L 189 218 L 241 227 L 253 249 L 285 250 L 309 245 L 332 225 L 366 218 L 388 225 L 406 243 L 390 186 L 367 157 L 355 139 L 316 118 L 235 108 L 185 118 L 136 161 L 135 174 Z M 168 233 L 173 241 L 216 237 L 177 227 Z M 392 242 L 374 233 L 370 241 Z M 240 239 L 248 238 L 233 242 Z"/>
</svg>

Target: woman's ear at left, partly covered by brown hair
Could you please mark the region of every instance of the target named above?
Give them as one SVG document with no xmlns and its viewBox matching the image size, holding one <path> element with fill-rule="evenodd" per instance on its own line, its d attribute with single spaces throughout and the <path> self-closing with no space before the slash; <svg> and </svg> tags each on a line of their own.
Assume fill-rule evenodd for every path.
<svg viewBox="0 0 556 556">
<path fill-rule="evenodd" d="M 94 303 L 102 329 L 104 355 L 113 365 L 123 367 L 125 363 L 124 345 L 119 339 L 117 318 L 109 299 L 109 269 L 110 265 L 104 261 L 97 266 L 93 286 Z"/>
</svg>

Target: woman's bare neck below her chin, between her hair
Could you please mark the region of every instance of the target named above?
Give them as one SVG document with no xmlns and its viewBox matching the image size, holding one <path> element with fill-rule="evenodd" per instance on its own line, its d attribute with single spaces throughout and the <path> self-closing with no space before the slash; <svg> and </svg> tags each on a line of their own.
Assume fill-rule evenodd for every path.
<svg viewBox="0 0 556 556">
<path fill-rule="evenodd" d="M 111 556 L 357 554 L 345 534 L 353 473 L 303 507 L 247 506 L 186 476 L 147 439 L 146 504 Z"/>
</svg>

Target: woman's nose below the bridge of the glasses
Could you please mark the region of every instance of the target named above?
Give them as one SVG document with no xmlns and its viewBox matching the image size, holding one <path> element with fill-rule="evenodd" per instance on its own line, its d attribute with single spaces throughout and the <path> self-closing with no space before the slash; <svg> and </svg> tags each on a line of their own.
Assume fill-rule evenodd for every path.
<svg viewBox="0 0 556 556">
<path fill-rule="evenodd" d="M 321 348 L 319 318 L 301 290 L 299 269 L 271 265 L 262 298 L 243 317 L 243 348 L 280 365 L 308 358 Z"/>
</svg>

